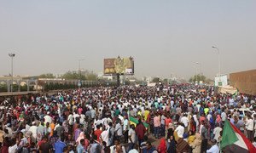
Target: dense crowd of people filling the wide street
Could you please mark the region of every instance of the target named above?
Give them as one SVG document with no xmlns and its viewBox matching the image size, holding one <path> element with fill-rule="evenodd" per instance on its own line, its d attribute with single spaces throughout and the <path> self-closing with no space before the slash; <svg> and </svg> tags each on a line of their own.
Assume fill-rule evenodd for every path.
<svg viewBox="0 0 256 153">
<path fill-rule="evenodd" d="M 255 97 L 207 86 L 80 88 L 0 103 L 2 153 L 218 153 L 226 119 L 253 144 L 256 136 Z"/>
</svg>

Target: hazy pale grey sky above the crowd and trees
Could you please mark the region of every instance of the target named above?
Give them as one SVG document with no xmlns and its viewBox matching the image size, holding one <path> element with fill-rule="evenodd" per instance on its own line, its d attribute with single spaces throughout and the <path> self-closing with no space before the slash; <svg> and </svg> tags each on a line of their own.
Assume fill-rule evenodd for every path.
<svg viewBox="0 0 256 153">
<path fill-rule="evenodd" d="M 0 75 L 103 71 L 135 59 L 137 77 L 213 78 L 256 68 L 255 0 L 0 0 Z M 198 66 L 199 67 L 199 66 Z"/>
</svg>

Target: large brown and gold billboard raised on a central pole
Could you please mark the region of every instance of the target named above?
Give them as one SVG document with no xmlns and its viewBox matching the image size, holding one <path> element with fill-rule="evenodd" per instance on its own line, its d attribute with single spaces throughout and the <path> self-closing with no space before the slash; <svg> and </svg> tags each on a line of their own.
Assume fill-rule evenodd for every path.
<svg viewBox="0 0 256 153">
<path fill-rule="evenodd" d="M 104 75 L 115 74 L 134 74 L 134 60 L 133 58 L 116 58 L 104 59 Z"/>
</svg>

